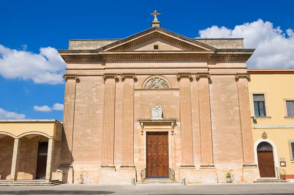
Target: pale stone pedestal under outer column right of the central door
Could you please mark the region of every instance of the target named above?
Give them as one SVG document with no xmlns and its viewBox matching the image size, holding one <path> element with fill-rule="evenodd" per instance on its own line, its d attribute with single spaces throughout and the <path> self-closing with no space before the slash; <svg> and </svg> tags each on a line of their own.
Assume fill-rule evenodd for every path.
<svg viewBox="0 0 294 195">
<path fill-rule="evenodd" d="M 200 183 L 218 183 L 217 169 L 212 164 L 200 165 Z"/>
</svg>

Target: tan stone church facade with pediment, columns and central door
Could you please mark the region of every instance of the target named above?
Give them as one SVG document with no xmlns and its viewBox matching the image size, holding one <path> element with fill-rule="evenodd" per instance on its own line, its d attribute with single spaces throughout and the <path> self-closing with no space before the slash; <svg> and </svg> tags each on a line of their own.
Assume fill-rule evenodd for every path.
<svg viewBox="0 0 294 195">
<path fill-rule="evenodd" d="M 70 40 L 56 179 L 190 183 L 260 177 L 243 39 L 191 39 L 160 27 L 124 39 Z M 85 182 L 85 181 L 84 181 Z"/>
</svg>

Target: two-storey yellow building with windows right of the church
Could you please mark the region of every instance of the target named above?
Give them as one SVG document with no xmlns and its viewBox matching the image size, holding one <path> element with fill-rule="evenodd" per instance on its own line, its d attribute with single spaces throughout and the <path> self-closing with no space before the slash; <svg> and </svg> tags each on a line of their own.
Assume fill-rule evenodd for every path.
<svg viewBox="0 0 294 195">
<path fill-rule="evenodd" d="M 294 70 L 248 70 L 255 163 L 260 176 L 294 179 Z M 285 173 L 285 172 L 286 173 Z"/>
</svg>

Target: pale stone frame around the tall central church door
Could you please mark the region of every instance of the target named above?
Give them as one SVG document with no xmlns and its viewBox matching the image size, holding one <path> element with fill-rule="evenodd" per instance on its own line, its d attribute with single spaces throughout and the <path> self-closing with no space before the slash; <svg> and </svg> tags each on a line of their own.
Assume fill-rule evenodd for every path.
<svg viewBox="0 0 294 195">
<path fill-rule="evenodd" d="M 160 127 L 159 127 L 160 128 Z M 172 145 L 173 145 L 173 136 L 172 136 L 172 129 L 146 129 L 143 132 L 143 139 L 142 139 L 142 156 L 143 156 L 143 167 L 141 170 L 147 168 L 147 132 L 168 132 L 168 137 L 169 137 L 169 168 L 172 169 L 173 165 L 173 151 L 172 151 Z M 173 169 L 172 169 L 173 170 Z M 169 171 L 170 172 L 170 171 Z"/>
</svg>

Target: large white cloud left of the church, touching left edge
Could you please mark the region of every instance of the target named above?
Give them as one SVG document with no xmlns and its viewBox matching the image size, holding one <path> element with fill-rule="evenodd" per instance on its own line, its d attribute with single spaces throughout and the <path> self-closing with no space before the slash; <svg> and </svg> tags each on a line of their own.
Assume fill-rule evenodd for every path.
<svg viewBox="0 0 294 195">
<path fill-rule="evenodd" d="M 41 48 L 40 53 L 9 49 L 0 45 L 0 75 L 5 78 L 33 80 L 34 83 L 60 84 L 66 63 L 54 48 Z"/>
</svg>

